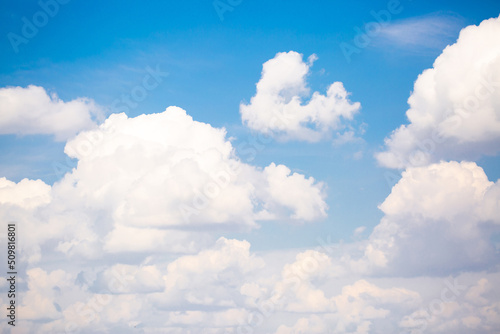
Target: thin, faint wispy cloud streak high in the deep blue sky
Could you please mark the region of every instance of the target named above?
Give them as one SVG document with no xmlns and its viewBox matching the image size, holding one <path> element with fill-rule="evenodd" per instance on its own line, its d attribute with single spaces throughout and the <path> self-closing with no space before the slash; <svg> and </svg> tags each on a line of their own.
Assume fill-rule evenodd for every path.
<svg viewBox="0 0 500 334">
<path fill-rule="evenodd" d="M 451 14 L 430 14 L 395 21 L 383 27 L 375 45 L 408 51 L 442 49 L 458 37 L 463 19 Z"/>
</svg>

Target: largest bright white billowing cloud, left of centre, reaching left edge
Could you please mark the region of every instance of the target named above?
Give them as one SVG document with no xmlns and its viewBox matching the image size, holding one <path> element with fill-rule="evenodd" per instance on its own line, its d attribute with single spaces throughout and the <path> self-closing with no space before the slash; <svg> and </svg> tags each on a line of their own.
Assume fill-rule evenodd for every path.
<svg viewBox="0 0 500 334">
<path fill-rule="evenodd" d="M 0 217 L 30 231 L 20 245 L 23 261 L 192 254 L 217 232 L 326 216 L 321 182 L 283 165 L 242 163 L 224 129 L 176 107 L 136 118 L 111 115 L 68 141 L 65 151 L 78 164 L 52 187 L 0 179 Z"/>
</svg>

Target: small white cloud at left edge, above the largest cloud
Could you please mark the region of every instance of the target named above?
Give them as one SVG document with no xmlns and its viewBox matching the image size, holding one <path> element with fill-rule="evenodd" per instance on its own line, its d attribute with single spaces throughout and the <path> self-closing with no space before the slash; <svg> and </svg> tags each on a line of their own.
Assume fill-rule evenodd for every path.
<svg viewBox="0 0 500 334">
<path fill-rule="evenodd" d="M 0 88 L 0 109 L 0 134 L 48 134 L 59 141 L 95 127 L 94 120 L 102 116 L 90 99 L 64 102 L 34 85 Z"/>
</svg>

